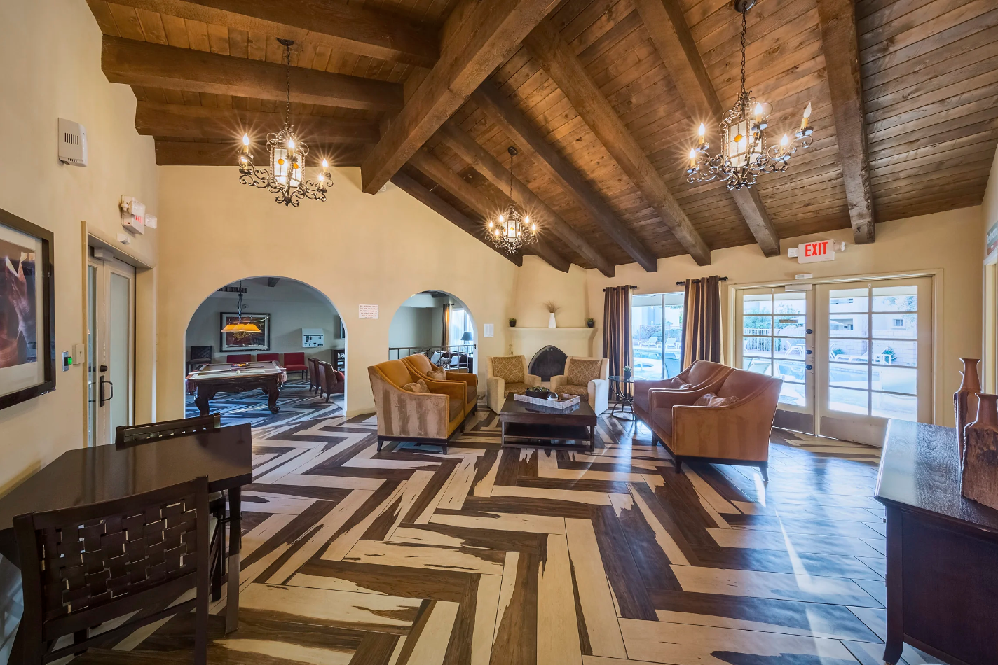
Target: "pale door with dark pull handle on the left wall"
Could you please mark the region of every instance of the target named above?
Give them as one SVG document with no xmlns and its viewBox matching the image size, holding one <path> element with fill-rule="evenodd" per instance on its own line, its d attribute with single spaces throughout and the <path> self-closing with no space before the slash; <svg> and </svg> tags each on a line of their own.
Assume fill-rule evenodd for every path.
<svg viewBox="0 0 998 665">
<path fill-rule="evenodd" d="M 113 444 L 135 409 L 135 268 L 87 262 L 87 445 Z"/>
</svg>

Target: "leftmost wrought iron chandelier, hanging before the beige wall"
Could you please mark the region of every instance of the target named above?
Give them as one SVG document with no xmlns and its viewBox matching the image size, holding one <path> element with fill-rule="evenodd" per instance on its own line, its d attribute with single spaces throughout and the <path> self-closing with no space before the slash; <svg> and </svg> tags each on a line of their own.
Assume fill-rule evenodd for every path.
<svg viewBox="0 0 998 665">
<path fill-rule="evenodd" d="M 332 183 L 329 163 L 322 160 L 318 181 L 304 179 L 304 161 L 308 146 L 298 139 L 291 125 L 291 46 L 289 39 L 277 39 L 284 47 L 284 126 L 276 134 L 266 135 L 266 151 L 270 158 L 267 167 L 253 166 L 250 154 L 250 135 L 243 135 L 243 153 L 240 155 L 240 182 L 260 187 L 277 194 L 274 201 L 297 207 L 300 198 L 325 200 L 326 186 Z"/>
</svg>

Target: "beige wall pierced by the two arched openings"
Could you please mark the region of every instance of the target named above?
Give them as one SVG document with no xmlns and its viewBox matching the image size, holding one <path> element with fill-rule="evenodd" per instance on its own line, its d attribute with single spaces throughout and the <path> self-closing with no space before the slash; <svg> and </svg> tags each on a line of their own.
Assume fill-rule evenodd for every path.
<svg viewBox="0 0 998 665">
<path fill-rule="evenodd" d="M 480 355 L 504 353 L 501 324 L 513 309 L 516 266 L 395 185 L 372 196 L 359 179 L 359 168 L 336 170 L 326 202 L 293 208 L 240 184 L 235 167 L 160 168 L 159 420 L 184 412 L 184 331 L 192 314 L 219 287 L 250 276 L 305 282 L 340 313 L 349 415 L 374 410 L 367 367 L 387 360 L 392 316 L 414 293 L 461 299 Z M 362 304 L 378 305 L 379 318 L 359 319 Z M 486 323 L 495 324 L 495 337 L 482 336 Z"/>
</svg>

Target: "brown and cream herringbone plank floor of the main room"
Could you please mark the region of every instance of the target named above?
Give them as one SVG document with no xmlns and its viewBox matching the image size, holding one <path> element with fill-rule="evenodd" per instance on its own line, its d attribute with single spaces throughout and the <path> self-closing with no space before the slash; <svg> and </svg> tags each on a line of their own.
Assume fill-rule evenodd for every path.
<svg viewBox="0 0 998 665">
<path fill-rule="evenodd" d="M 882 662 L 877 449 L 774 431 L 766 485 L 676 474 L 614 418 L 593 455 L 501 450 L 497 428 L 483 405 L 442 456 L 377 453 L 373 416 L 254 427 L 240 629 L 213 605 L 209 661 Z M 78 662 L 186 663 L 192 641 L 175 617 Z"/>
</svg>

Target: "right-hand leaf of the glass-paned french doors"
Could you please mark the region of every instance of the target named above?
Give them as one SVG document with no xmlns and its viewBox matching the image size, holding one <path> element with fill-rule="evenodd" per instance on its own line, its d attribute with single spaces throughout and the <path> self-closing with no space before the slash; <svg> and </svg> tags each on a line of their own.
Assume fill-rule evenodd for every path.
<svg viewBox="0 0 998 665">
<path fill-rule="evenodd" d="M 887 420 L 932 422 L 932 278 L 816 285 L 818 433 L 882 446 Z"/>
</svg>

